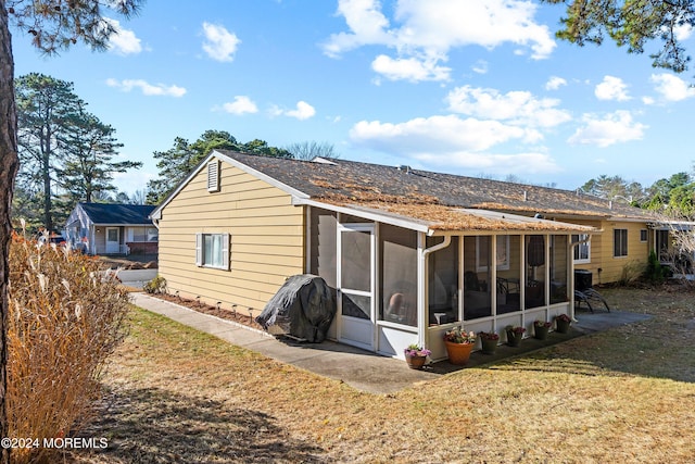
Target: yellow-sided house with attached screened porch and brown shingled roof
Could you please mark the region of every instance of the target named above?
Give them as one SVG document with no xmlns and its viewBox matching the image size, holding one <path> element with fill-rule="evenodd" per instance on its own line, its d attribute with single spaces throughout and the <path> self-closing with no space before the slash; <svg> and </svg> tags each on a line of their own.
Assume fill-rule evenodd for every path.
<svg viewBox="0 0 695 464">
<path fill-rule="evenodd" d="M 337 291 L 330 338 L 399 358 L 417 342 L 434 360 L 460 324 L 532 333 L 573 315 L 576 263 L 615 280 L 658 240 L 647 212 L 576 191 L 224 150 L 152 218 L 170 291 L 258 315 L 312 273 Z"/>
</svg>

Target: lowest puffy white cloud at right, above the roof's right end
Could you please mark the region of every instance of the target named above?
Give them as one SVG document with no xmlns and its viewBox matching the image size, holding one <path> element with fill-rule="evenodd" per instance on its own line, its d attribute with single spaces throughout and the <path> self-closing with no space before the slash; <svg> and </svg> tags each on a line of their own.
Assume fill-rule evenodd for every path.
<svg viewBox="0 0 695 464">
<path fill-rule="evenodd" d="M 604 118 L 586 114 L 583 126 L 567 140 L 573 145 L 596 145 L 606 148 L 615 143 L 641 140 L 648 126 L 634 122 L 628 111 L 616 111 Z"/>
</svg>

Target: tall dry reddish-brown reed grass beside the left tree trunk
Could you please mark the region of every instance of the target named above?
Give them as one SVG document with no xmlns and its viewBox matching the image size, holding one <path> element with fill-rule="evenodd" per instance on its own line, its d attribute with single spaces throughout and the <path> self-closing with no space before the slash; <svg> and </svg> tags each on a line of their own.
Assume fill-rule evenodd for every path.
<svg viewBox="0 0 695 464">
<path fill-rule="evenodd" d="M 8 421 L 10 437 L 75 434 L 99 397 L 106 358 L 125 337 L 128 293 L 92 258 L 15 236 L 10 247 Z M 56 450 L 12 450 L 18 463 Z"/>
</svg>

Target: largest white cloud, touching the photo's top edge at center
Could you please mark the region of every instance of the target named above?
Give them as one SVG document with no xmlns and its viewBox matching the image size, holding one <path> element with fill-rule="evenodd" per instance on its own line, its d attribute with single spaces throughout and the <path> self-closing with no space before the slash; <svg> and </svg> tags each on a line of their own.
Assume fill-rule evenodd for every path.
<svg viewBox="0 0 695 464">
<path fill-rule="evenodd" d="M 382 66 L 372 63 L 376 72 L 383 71 L 391 79 L 446 80 L 448 70 L 438 63 L 446 61 L 453 48 L 513 43 L 530 50 L 535 60 L 547 58 L 556 45 L 547 26 L 534 22 L 536 8 L 522 0 L 399 0 L 393 14 L 397 26 L 391 27 L 378 0 L 339 0 L 337 14 L 345 18 L 349 32 L 331 35 L 324 52 L 336 58 L 358 47 L 383 46 L 393 49 L 396 58 L 387 61 L 381 54 L 377 60 Z M 414 72 L 414 59 L 437 72 Z M 406 70 L 394 72 L 396 64 Z"/>
</svg>

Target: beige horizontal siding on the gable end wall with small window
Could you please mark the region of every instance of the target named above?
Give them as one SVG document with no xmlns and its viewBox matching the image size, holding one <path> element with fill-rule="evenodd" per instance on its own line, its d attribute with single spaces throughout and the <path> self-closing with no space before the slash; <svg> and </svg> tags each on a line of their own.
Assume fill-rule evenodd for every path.
<svg viewBox="0 0 695 464">
<path fill-rule="evenodd" d="M 304 212 L 290 195 L 227 163 L 218 192 L 203 168 L 162 210 L 160 274 L 170 292 L 260 314 L 287 277 L 304 272 Z M 230 234 L 230 269 L 195 265 L 195 234 Z"/>
</svg>

